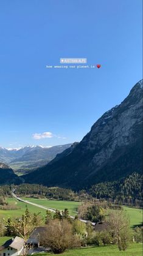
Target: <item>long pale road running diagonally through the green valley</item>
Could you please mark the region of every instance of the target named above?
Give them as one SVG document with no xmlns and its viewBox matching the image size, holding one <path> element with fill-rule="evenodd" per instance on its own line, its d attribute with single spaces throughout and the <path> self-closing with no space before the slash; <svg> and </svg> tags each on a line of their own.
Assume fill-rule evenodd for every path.
<svg viewBox="0 0 143 256">
<path fill-rule="evenodd" d="M 54 208 L 49 208 L 49 207 L 46 207 L 46 206 L 43 206 L 43 205 L 38 205 L 37 203 L 32 203 L 32 201 L 28 201 L 28 200 L 23 200 L 23 199 L 21 199 L 20 197 L 17 197 L 16 195 L 15 195 L 15 190 L 12 190 L 12 196 L 16 199 L 16 200 L 18 200 L 18 201 L 22 201 L 23 203 L 26 203 L 26 204 L 29 204 L 29 205 L 33 205 L 33 206 L 37 206 L 37 207 L 39 207 L 39 208 L 42 208 L 42 209 L 46 209 L 46 210 L 49 210 L 49 211 L 51 211 L 52 213 L 55 213 L 55 211 L 56 211 L 56 209 L 54 209 Z M 61 211 L 60 211 L 61 212 Z M 71 219 L 74 219 L 74 216 L 69 216 Z M 83 219 L 79 219 L 80 221 L 82 221 L 82 222 L 84 222 L 84 223 L 90 223 L 91 225 L 96 225 L 96 223 L 95 222 L 90 222 L 89 220 L 83 220 Z"/>
</svg>

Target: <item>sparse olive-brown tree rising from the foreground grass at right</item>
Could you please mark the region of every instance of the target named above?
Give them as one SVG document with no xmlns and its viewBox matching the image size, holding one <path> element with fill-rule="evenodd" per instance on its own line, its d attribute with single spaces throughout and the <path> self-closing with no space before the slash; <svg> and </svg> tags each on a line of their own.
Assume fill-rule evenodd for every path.
<svg viewBox="0 0 143 256">
<path fill-rule="evenodd" d="M 113 243 L 119 250 L 126 250 L 131 241 L 130 221 L 123 211 L 112 211 L 106 222 L 108 231 L 113 237 Z"/>
</svg>

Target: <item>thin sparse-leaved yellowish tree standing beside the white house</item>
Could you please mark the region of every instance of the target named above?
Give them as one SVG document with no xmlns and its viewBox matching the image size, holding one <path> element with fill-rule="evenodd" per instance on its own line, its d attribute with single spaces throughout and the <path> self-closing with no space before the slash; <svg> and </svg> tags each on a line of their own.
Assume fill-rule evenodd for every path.
<svg viewBox="0 0 143 256">
<path fill-rule="evenodd" d="M 36 214 L 34 214 L 33 216 L 30 215 L 29 210 L 26 206 L 26 211 L 21 218 L 15 220 L 5 220 L 7 228 L 12 228 L 13 230 L 15 230 L 15 233 L 17 235 L 21 236 L 21 238 L 24 239 L 24 250 L 22 252 L 23 256 L 26 256 L 29 252 L 29 249 L 32 247 L 32 245 L 27 244 L 27 239 L 31 235 L 33 229 L 36 227 L 35 217 Z M 38 225 L 40 224 L 40 222 L 41 219 L 39 217 Z"/>
</svg>

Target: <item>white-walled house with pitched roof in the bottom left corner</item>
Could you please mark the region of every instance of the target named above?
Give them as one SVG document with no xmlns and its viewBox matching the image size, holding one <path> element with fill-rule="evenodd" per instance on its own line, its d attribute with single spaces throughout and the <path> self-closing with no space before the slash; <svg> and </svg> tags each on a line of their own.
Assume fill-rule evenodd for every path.
<svg viewBox="0 0 143 256">
<path fill-rule="evenodd" d="M 7 240 L 0 246 L 0 256 L 16 256 L 21 255 L 24 247 L 24 239 L 16 236 L 15 238 Z"/>
</svg>

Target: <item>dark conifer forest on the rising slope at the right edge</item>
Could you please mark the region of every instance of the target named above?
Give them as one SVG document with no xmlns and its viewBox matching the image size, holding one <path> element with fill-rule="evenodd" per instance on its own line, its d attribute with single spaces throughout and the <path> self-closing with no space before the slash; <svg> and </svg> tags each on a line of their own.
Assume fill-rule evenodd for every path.
<svg viewBox="0 0 143 256">
<path fill-rule="evenodd" d="M 89 189 L 89 194 L 116 204 L 142 207 L 142 175 L 133 173 L 119 181 L 96 184 Z"/>
</svg>

